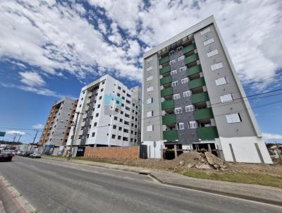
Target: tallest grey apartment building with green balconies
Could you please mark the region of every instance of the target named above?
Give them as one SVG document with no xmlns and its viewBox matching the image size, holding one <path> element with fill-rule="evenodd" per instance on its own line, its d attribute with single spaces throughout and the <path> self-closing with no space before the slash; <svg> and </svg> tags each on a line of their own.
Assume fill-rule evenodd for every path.
<svg viewBox="0 0 282 213">
<path fill-rule="evenodd" d="M 213 16 L 147 51 L 143 82 L 145 144 L 272 164 Z"/>
</svg>

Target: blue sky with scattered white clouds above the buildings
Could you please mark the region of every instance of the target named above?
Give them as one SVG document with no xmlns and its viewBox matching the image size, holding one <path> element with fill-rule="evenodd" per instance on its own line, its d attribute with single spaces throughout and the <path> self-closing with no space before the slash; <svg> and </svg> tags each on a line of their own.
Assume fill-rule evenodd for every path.
<svg viewBox="0 0 282 213">
<path fill-rule="evenodd" d="M 4 140 L 31 142 L 54 102 L 106 73 L 141 85 L 145 51 L 212 15 L 247 95 L 269 92 L 250 98 L 264 140 L 282 142 L 280 0 L 0 0 Z"/>
</svg>

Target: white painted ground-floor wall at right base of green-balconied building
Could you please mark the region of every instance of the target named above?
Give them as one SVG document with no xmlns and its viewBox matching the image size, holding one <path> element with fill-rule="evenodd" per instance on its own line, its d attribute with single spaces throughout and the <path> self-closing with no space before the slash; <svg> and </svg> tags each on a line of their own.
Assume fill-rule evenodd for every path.
<svg viewBox="0 0 282 213">
<path fill-rule="evenodd" d="M 259 137 L 240 137 L 240 138 L 223 138 L 220 137 L 221 147 L 226 162 L 233 162 L 233 157 L 229 144 L 233 147 L 236 162 L 257 163 L 260 164 L 259 154 L 255 147 L 258 144 L 262 153 L 265 164 L 273 164 L 269 152 L 266 149 L 264 140 Z"/>
</svg>

